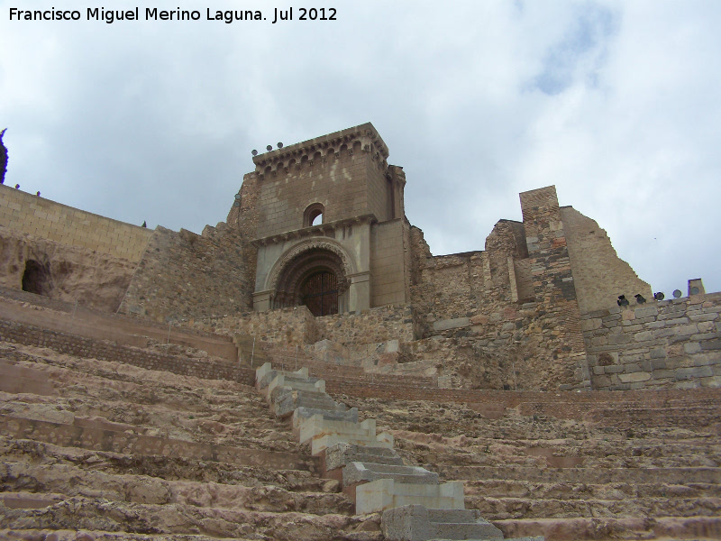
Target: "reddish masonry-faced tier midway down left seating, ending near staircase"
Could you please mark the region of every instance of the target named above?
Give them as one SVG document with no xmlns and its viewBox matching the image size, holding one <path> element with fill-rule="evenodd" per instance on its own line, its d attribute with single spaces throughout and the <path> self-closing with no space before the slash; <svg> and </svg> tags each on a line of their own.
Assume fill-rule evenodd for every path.
<svg viewBox="0 0 721 541">
<path fill-rule="evenodd" d="M 0 414 L 0 430 L 15 439 L 32 439 L 63 447 L 103 450 L 123 454 L 174 455 L 185 458 L 228 462 L 237 465 L 316 471 L 317 459 L 302 454 L 278 453 L 262 449 L 209 445 L 133 434 L 114 429 L 107 423 L 94 423 L 75 417 L 72 424 L 41 421 Z"/>
</svg>

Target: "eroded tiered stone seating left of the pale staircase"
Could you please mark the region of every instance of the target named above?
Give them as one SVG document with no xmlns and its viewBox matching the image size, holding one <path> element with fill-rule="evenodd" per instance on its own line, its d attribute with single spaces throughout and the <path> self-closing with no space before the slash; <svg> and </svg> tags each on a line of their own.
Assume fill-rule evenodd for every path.
<svg viewBox="0 0 721 541">
<path fill-rule="evenodd" d="M 0 343 L 0 539 L 379 540 L 319 472 L 252 387 Z"/>
</svg>

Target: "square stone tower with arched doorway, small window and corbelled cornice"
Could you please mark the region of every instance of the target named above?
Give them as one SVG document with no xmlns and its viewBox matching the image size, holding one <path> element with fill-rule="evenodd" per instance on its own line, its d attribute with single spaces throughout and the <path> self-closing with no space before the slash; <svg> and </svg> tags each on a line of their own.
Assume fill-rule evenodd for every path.
<svg viewBox="0 0 721 541">
<path fill-rule="evenodd" d="M 408 300 L 406 178 L 387 158 L 370 123 L 253 158 L 255 310 L 325 316 Z"/>
</svg>

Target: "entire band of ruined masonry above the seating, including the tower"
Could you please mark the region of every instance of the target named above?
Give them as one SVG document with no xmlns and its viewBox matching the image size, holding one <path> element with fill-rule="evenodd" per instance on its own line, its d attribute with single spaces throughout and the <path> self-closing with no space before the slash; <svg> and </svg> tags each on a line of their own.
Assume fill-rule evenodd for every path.
<svg viewBox="0 0 721 541">
<path fill-rule="evenodd" d="M 700 280 L 655 300 L 554 187 L 482 250 L 434 256 L 388 156 L 372 124 L 256 155 L 202 234 L 0 186 L 0 286 L 447 388 L 721 386 L 721 297 Z"/>
</svg>

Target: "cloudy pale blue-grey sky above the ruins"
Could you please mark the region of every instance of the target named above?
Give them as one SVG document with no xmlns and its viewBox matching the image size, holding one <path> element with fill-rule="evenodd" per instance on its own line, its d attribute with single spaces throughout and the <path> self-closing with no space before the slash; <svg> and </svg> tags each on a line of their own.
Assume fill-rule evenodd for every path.
<svg viewBox="0 0 721 541">
<path fill-rule="evenodd" d="M 0 0 L 6 184 L 200 233 L 251 149 L 370 121 L 436 255 L 483 249 L 521 219 L 518 192 L 555 184 L 654 291 L 721 290 L 721 3 L 109 0 L 141 17 L 112 24 L 87 21 L 96 5 Z M 304 6 L 336 20 L 299 21 Z M 81 19 L 11 21 L 14 7 Z"/>
</svg>

